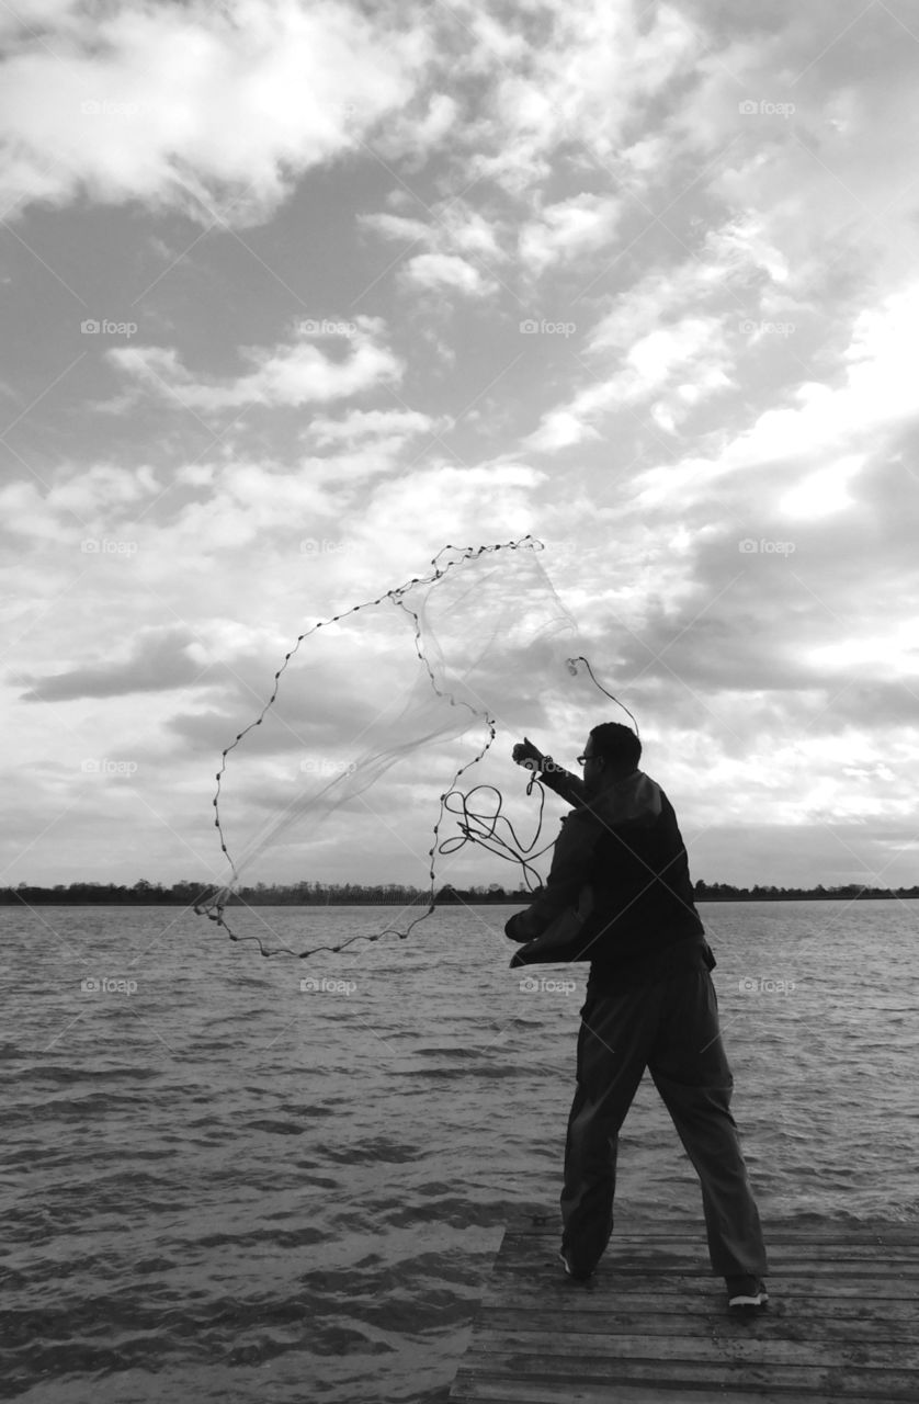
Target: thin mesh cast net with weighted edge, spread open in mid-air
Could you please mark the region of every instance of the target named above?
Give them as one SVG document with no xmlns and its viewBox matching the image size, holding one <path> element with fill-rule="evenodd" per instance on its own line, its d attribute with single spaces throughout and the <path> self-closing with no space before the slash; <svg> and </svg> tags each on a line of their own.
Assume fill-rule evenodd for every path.
<svg viewBox="0 0 919 1404">
<path fill-rule="evenodd" d="M 427 574 L 297 636 L 223 751 L 213 807 L 229 870 L 196 911 L 262 955 L 306 958 L 405 938 L 438 886 L 504 883 L 508 862 L 512 887 L 539 886 L 554 835 L 539 847 L 544 795 L 511 748 L 526 734 L 575 768 L 574 747 L 602 720 L 542 552 L 529 536 L 446 546 Z M 321 939 L 321 907 L 297 908 L 293 943 L 240 900 L 254 883 L 355 878 L 421 882 L 427 894 L 335 943 Z"/>
</svg>

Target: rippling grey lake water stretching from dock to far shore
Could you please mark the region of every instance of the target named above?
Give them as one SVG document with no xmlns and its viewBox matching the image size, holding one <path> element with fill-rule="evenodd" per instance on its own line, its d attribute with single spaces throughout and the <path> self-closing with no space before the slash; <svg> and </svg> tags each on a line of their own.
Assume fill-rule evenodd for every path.
<svg viewBox="0 0 919 1404">
<path fill-rule="evenodd" d="M 508 970 L 511 910 L 295 962 L 177 908 L 0 908 L 4 1396 L 443 1404 L 502 1228 L 561 1189 L 586 967 Z M 700 913 L 766 1240 L 919 1223 L 919 904 Z M 661 1216 L 703 1244 L 645 1074 L 616 1221 Z"/>
</svg>

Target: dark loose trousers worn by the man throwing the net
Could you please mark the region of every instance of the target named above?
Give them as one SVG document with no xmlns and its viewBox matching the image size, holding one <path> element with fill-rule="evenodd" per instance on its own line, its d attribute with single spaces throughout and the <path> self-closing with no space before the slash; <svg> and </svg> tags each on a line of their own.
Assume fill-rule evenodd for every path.
<svg viewBox="0 0 919 1404">
<path fill-rule="evenodd" d="M 561 1245 L 571 1271 L 592 1271 L 613 1231 L 619 1130 L 645 1067 L 702 1181 L 711 1271 L 763 1278 L 759 1213 L 728 1109 L 734 1078 L 702 960 L 622 994 L 588 993 L 561 1193 Z"/>
</svg>

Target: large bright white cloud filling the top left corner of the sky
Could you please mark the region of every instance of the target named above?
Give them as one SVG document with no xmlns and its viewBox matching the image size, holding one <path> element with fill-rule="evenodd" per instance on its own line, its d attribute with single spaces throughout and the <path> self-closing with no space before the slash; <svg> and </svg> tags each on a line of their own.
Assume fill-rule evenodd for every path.
<svg viewBox="0 0 919 1404">
<path fill-rule="evenodd" d="M 338 0 L 70 13 L 60 44 L 22 18 L 0 70 L 4 202 L 88 191 L 205 222 L 219 205 L 234 225 L 264 220 L 299 173 L 356 150 L 429 56 L 421 29 L 400 32 L 390 14 L 382 31 Z"/>
</svg>

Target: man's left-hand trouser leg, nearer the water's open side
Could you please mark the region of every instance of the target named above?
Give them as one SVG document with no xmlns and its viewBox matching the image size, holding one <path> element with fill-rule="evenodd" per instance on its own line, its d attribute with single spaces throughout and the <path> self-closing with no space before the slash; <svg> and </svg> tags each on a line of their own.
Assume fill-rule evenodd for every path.
<svg viewBox="0 0 919 1404">
<path fill-rule="evenodd" d="M 593 1271 L 613 1231 L 619 1129 L 652 1046 L 655 994 L 588 995 L 581 1009 L 561 1192 L 561 1250 L 574 1276 Z"/>
</svg>

